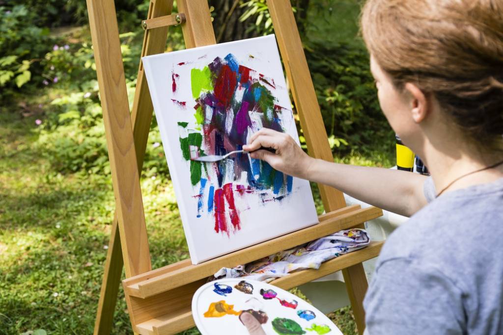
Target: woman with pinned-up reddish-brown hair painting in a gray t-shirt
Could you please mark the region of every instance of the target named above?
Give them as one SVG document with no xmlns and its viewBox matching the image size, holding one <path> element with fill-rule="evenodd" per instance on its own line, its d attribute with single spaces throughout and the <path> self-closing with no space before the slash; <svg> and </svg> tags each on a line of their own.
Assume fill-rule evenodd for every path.
<svg viewBox="0 0 503 335">
<path fill-rule="evenodd" d="M 243 149 L 410 216 L 379 255 L 368 333 L 502 334 L 503 1 L 368 0 L 361 24 L 383 113 L 432 177 L 313 159 L 268 129 Z"/>
</svg>

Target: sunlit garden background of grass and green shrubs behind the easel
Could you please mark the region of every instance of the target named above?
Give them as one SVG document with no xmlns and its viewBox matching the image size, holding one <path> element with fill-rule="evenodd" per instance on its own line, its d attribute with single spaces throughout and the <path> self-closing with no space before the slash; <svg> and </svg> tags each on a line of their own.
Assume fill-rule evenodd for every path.
<svg viewBox="0 0 503 335">
<path fill-rule="evenodd" d="M 265 0 L 209 4 L 218 42 L 274 33 Z M 360 1 L 292 6 L 334 160 L 393 165 L 394 134 L 358 36 Z M 132 105 L 148 1 L 116 10 Z M 166 51 L 183 48 L 180 27 L 170 28 Z M 91 333 L 114 204 L 86 2 L 0 0 L 0 101 L 0 334 Z M 187 258 L 155 118 L 142 193 L 153 267 Z M 114 333 L 131 332 L 125 309 L 121 296 Z M 350 310 L 334 315 L 355 333 Z"/>
</svg>

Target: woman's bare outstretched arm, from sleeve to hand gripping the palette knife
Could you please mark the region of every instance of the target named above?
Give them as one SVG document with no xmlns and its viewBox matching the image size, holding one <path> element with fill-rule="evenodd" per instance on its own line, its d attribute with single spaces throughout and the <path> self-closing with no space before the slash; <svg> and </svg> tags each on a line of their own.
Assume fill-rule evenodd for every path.
<svg viewBox="0 0 503 335">
<path fill-rule="evenodd" d="M 273 148 L 276 154 L 261 147 Z M 335 187 L 377 207 L 410 216 L 426 205 L 426 177 L 406 171 L 337 164 L 305 154 L 287 134 L 262 129 L 244 150 L 286 174 Z"/>
</svg>

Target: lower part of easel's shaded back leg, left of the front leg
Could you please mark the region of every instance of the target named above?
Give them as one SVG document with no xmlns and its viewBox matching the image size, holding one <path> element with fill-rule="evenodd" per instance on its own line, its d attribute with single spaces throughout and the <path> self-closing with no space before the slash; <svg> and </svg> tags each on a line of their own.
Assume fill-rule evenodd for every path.
<svg viewBox="0 0 503 335">
<path fill-rule="evenodd" d="M 115 215 L 110 242 L 108 244 L 107 260 L 105 261 L 105 273 L 103 274 L 103 282 L 101 284 L 94 335 L 110 334 L 112 330 L 115 303 L 119 293 L 123 266 L 124 261 L 122 259 L 119 225 L 117 215 Z"/>
</svg>

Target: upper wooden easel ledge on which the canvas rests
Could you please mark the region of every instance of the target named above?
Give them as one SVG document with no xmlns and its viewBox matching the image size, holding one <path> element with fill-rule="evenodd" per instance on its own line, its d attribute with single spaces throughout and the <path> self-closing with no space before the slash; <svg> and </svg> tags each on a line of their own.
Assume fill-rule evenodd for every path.
<svg viewBox="0 0 503 335">
<path fill-rule="evenodd" d="M 319 216 L 320 223 L 276 239 L 266 241 L 202 264 L 182 261 L 123 280 L 124 292 L 130 296 L 147 298 L 213 275 L 222 267 L 234 267 L 267 257 L 298 245 L 316 240 L 382 215 L 376 207 L 348 206 Z"/>
</svg>

